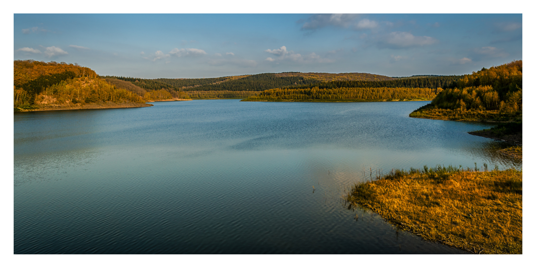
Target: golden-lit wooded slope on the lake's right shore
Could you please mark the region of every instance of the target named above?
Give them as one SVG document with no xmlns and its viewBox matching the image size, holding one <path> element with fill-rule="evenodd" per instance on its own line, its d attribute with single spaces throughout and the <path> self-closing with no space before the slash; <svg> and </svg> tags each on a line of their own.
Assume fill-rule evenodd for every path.
<svg viewBox="0 0 536 268">
<path fill-rule="evenodd" d="M 456 81 L 411 117 L 469 121 L 515 121 L 523 111 L 523 62 L 482 68 Z"/>
</svg>

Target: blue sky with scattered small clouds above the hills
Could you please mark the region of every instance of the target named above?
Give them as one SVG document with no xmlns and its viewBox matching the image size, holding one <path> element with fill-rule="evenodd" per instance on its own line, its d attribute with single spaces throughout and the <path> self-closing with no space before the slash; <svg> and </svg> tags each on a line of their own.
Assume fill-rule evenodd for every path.
<svg viewBox="0 0 536 268">
<path fill-rule="evenodd" d="M 522 59 L 521 14 L 14 14 L 14 59 L 99 75 L 461 75 Z"/>
</svg>

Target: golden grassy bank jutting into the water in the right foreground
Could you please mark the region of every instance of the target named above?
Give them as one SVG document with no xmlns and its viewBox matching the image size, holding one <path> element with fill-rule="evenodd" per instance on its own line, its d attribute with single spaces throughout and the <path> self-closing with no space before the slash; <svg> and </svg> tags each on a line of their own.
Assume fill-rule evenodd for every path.
<svg viewBox="0 0 536 268">
<path fill-rule="evenodd" d="M 426 240 L 474 254 L 522 254 L 519 170 L 424 167 L 356 183 L 348 209 L 366 207 Z"/>
</svg>

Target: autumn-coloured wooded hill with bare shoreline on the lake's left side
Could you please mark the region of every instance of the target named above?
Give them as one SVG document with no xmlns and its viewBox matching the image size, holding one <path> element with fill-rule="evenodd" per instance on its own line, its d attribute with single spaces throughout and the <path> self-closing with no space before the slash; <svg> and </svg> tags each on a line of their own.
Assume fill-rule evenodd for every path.
<svg viewBox="0 0 536 268">
<path fill-rule="evenodd" d="M 173 98 L 167 90 L 143 90 L 128 81 L 108 82 L 90 68 L 64 62 L 14 61 L 13 76 L 16 111 L 76 103 L 144 103 Z M 177 95 L 181 94 L 189 99 L 184 92 Z"/>
</svg>

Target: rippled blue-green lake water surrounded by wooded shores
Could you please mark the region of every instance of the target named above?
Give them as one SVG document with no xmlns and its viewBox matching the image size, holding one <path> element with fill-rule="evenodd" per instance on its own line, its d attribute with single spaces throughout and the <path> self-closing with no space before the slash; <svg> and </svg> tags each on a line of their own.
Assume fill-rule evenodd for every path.
<svg viewBox="0 0 536 268">
<path fill-rule="evenodd" d="M 464 254 L 346 210 L 344 189 L 522 167 L 467 134 L 489 124 L 408 117 L 428 102 L 153 103 L 14 114 L 16 254 Z"/>
</svg>

